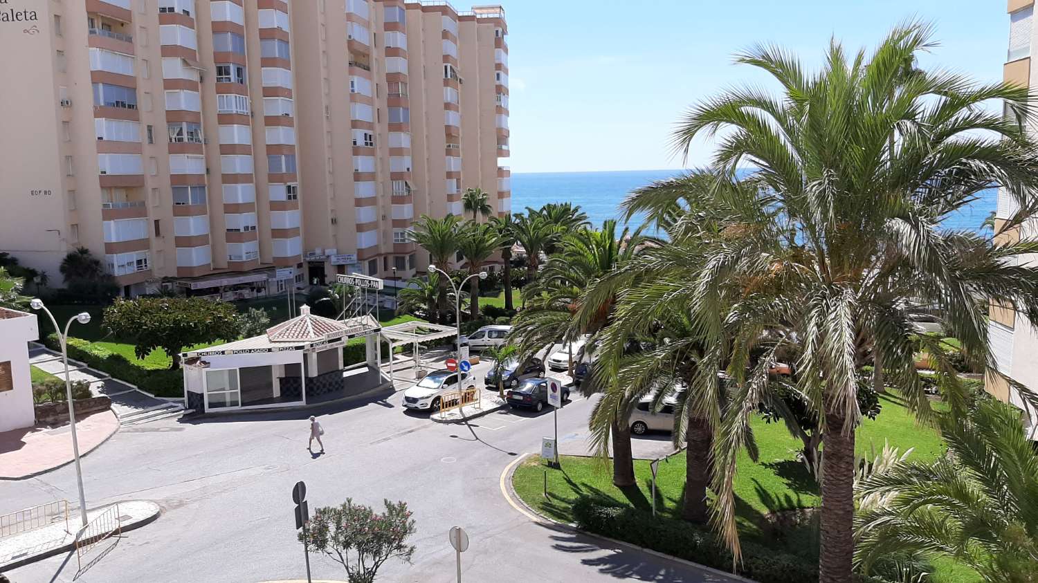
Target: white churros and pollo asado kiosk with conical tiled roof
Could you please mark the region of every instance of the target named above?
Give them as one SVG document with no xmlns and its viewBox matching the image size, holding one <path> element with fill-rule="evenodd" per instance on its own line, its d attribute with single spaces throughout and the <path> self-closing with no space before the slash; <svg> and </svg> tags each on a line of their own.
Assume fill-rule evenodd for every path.
<svg viewBox="0 0 1038 583">
<path fill-rule="evenodd" d="M 336 321 L 303 306 L 264 335 L 182 354 L 185 407 L 204 413 L 304 406 L 388 386 L 380 331 L 371 315 Z M 367 359 L 344 368 L 343 346 L 359 337 Z"/>
</svg>

